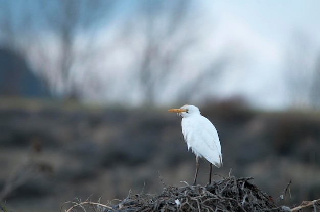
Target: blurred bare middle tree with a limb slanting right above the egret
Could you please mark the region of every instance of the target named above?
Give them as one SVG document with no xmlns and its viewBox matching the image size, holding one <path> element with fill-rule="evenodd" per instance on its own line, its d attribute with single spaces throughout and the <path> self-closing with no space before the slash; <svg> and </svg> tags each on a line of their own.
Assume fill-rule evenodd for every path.
<svg viewBox="0 0 320 212">
<path fill-rule="evenodd" d="M 193 13 L 195 4 L 198 3 L 184 0 L 142 0 L 136 12 L 143 18 L 127 22 L 126 29 L 129 28 L 127 31 L 131 32 L 127 36 L 132 36 L 135 31 L 142 34 L 142 44 L 132 49 L 133 57 L 136 58 L 134 74 L 138 78 L 137 86 L 145 105 L 161 103 L 158 99 L 164 96 L 165 91 L 170 90 L 169 86 L 172 87 L 172 92 L 178 94 L 177 102 L 190 101 L 196 92 L 205 90 L 205 86 L 212 84 L 213 76 L 221 73 L 228 62 L 231 62 L 230 57 L 223 55 L 208 61 L 208 66 L 201 67 L 202 64 L 198 64 L 196 70 L 184 70 L 184 63 L 188 62 L 190 53 L 196 55 L 199 51 L 203 35 L 200 33 L 201 19 Z M 173 85 L 172 77 L 178 83 Z M 180 80 L 189 77 L 190 80 Z"/>
</svg>

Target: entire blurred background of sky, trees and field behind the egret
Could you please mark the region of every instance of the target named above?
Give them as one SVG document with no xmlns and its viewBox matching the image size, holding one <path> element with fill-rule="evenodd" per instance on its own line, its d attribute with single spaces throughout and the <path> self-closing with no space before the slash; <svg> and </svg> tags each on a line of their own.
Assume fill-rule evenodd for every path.
<svg viewBox="0 0 320 212">
<path fill-rule="evenodd" d="M 0 0 L 0 201 L 102 203 L 192 183 L 181 117 L 216 126 L 219 175 L 320 198 L 318 1 Z M 198 183 L 208 181 L 200 162 Z M 91 195 L 91 196 L 90 196 Z M 114 201 L 113 204 L 117 204 Z"/>
</svg>

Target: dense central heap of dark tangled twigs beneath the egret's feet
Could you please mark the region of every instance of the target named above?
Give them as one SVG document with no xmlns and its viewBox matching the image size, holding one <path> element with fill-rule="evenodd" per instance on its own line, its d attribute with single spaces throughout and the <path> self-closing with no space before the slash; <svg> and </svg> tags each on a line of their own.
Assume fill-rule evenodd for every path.
<svg viewBox="0 0 320 212">
<path fill-rule="evenodd" d="M 177 211 L 178 208 L 180 211 L 285 211 L 277 207 L 267 194 L 248 182 L 250 179 L 230 176 L 206 187 L 187 184 L 177 188 L 165 185 L 161 195 L 135 195 L 129 202 L 124 200 L 122 207 L 116 210 Z"/>
</svg>

